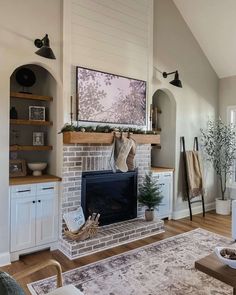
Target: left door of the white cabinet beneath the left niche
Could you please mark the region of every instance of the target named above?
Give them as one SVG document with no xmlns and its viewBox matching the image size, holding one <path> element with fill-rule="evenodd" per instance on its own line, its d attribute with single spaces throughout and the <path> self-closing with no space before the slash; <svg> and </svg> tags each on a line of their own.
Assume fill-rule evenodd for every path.
<svg viewBox="0 0 236 295">
<path fill-rule="evenodd" d="M 35 196 L 11 198 L 11 251 L 35 246 Z"/>
</svg>

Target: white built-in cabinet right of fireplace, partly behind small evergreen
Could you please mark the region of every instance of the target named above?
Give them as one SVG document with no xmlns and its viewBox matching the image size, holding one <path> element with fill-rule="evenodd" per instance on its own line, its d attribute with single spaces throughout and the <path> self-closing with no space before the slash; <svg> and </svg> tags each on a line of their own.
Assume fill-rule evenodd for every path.
<svg viewBox="0 0 236 295">
<path fill-rule="evenodd" d="M 158 218 L 172 218 L 172 204 L 173 204 L 173 171 L 167 172 L 152 172 L 156 180 L 161 194 L 163 196 L 162 202 L 156 209 Z"/>
</svg>

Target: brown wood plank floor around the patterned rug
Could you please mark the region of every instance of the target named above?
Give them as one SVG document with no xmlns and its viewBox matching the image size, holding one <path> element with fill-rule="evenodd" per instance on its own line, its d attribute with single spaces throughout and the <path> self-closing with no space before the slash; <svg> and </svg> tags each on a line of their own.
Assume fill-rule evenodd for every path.
<svg viewBox="0 0 236 295">
<path fill-rule="evenodd" d="M 34 265 L 40 261 L 53 258 L 61 263 L 62 270 L 67 271 L 88 263 L 96 262 L 101 259 L 120 254 L 165 238 L 175 236 L 180 233 L 190 231 L 195 228 L 204 228 L 209 231 L 218 233 L 220 235 L 231 237 L 231 216 L 222 216 L 217 215 L 215 212 L 206 213 L 206 217 L 203 218 L 201 214 L 194 215 L 193 221 L 190 221 L 189 218 L 180 219 L 177 221 L 166 220 L 165 221 L 165 233 L 158 234 L 146 239 L 138 240 L 131 242 L 122 246 L 118 246 L 109 250 L 101 251 L 86 257 L 82 257 L 73 261 L 70 261 L 66 258 L 60 251 L 41 251 L 34 254 L 29 254 L 22 256 L 19 261 L 12 263 L 9 266 L 0 268 L 1 270 L 7 271 L 10 274 L 19 272 L 27 267 Z M 39 271 L 30 277 L 22 279 L 19 283 L 24 288 L 26 294 L 30 294 L 26 287 L 27 283 L 32 281 L 40 280 L 49 276 L 54 275 L 55 273 L 50 269 L 46 268 L 42 271 Z"/>
</svg>

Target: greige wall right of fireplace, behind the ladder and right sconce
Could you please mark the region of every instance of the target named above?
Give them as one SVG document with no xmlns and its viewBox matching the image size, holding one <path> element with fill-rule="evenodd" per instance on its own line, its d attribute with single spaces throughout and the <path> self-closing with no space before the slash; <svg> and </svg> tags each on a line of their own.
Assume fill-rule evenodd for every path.
<svg viewBox="0 0 236 295">
<path fill-rule="evenodd" d="M 188 214 L 187 202 L 182 200 L 180 137 L 185 136 L 187 148 L 192 149 L 194 136 L 200 135 L 208 117 L 217 114 L 218 77 L 172 0 L 154 1 L 154 65 L 161 71 L 178 70 L 183 83 L 183 88 L 174 87 L 168 83 L 172 76 L 164 79 L 154 73 L 153 89 L 167 89 L 176 100 L 174 217 L 178 218 Z M 206 178 L 206 203 L 210 204 L 216 197 L 212 171 L 207 170 Z"/>
</svg>

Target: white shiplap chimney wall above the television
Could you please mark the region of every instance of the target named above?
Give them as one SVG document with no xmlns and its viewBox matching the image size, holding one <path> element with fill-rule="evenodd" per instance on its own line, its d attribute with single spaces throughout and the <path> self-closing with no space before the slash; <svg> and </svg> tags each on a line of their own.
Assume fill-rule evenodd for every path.
<svg viewBox="0 0 236 295">
<path fill-rule="evenodd" d="M 150 0 L 65 1 L 64 87 L 68 105 L 71 93 L 75 96 L 76 66 L 149 81 L 152 29 Z M 68 116 L 69 108 L 66 113 Z"/>
</svg>

